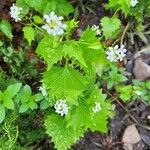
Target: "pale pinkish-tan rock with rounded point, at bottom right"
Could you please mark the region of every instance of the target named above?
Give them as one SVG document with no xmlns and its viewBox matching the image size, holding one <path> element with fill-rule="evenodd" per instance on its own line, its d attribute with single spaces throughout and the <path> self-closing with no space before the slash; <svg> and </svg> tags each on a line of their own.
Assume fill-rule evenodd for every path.
<svg viewBox="0 0 150 150">
<path fill-rule="evenodd" d="M 138 143 L 141 140 L 141 137 L 135 127 L 135 125 L 128 126 L 123 134 L 122 142 L 128 150 L 133 150 L 134 144 Z"/>
</svg>

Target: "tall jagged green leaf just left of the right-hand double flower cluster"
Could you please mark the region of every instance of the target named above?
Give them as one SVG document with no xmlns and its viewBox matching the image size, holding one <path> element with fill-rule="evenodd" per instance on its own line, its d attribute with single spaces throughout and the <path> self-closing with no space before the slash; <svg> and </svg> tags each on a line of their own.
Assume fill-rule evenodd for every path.
<svg viewBox="0 0 150 150">
<path fill-rule="evenodd" d="M 87 76 L 93 78 L 95 77 L 99 66 L 105 64 L 106 54 L 99 38 L 95 36 L 95 31 L 90 28 L 87 28 L 83 32 L 83 35 L 79 40 L 79 45 L 82 49 L 83 58 L 86 62 L 86 67 L 83 67 L 83 69 Z"/>
</svg>

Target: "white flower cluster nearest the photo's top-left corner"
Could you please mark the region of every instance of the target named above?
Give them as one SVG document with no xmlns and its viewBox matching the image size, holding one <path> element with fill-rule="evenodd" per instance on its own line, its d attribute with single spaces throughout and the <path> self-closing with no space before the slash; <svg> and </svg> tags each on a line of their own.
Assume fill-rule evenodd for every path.
<svg viewBox="0 0 150 150">
<path fill-rule="evenodd" d="M 15 22 L 21 21 L 21 18 L 19 17 L 21 10 L 22 8 L 16 6 L 15 4 L 10 7 L 10 16 L 15 20 Z"/>
</svg>

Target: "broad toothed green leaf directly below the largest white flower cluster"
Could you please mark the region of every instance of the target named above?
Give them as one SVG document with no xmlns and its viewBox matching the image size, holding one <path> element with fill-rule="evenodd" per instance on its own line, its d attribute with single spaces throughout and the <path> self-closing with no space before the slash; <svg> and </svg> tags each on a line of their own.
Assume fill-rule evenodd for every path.
<svg viewBox="0 0 150 150">
<path fill-rule="evenodd" d="M 60 42 L 55 37 L 50 36 L 45 36 L 41 40 L 36 49 L 36 53 L 48 63 L 48 69 L 64 55 Z"/>
</svg>

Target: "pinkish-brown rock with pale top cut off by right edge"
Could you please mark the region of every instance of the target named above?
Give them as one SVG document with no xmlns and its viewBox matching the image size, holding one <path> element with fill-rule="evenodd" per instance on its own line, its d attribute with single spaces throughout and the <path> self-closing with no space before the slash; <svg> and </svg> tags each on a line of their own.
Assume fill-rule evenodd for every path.
<svg viewBox="0 0 150 150">
<path fill-rule="evenodd" d="M 150 47 L 134 55 L 133 74 L 140 81 L 150 78 Z"/>
</svg>

